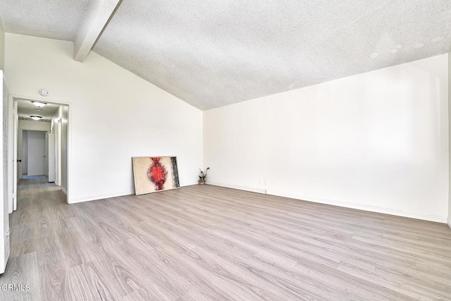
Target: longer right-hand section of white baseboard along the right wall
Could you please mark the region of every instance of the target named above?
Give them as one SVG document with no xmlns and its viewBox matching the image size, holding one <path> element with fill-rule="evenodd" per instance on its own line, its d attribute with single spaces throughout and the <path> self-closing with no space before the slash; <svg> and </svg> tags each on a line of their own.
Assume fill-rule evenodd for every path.
<svg viewBox="0 0 451 301">
<path fill-rule="evenodd" d="M 358 209 L 358 210 L 371 211 L 371 212 L 377 212 L 377 213 L 382 213 L 382 214 L 390 214 L 390 215 L 395 215 L 395 216 L 409 217 L 411 219 L 421 219 L 424 221 L 435 221 L 438 223 L 446 223 L 445 216 L 438 216 L 438 215 L 433 215 L 433 214 L 420 214 L 420 213 L 404 211 L 404 210 L 400 210 L 400 209 L 378 207 L 378 206 L 372 206 L 372 205 L 366 205 L 366 204 L 340 202 L 340 201 L 335 201 L 332 199 L 319 199 L 319 198 L 315 198 L 315 197 L 307 197 L 304 195 L 292 195 L 289 193 L 278 192 L 278 191 L 269 191 L 267 193 L 268 193 L 268 195 L 276 195 L 278 197 L 290 197 L 292 199 L 302 199 L 307 202 L 315 202 L 315 203 L 328 204 L 328 205 L 345 207 L 345 208 L 350 208 L 350 209 Z"/>
</svg>

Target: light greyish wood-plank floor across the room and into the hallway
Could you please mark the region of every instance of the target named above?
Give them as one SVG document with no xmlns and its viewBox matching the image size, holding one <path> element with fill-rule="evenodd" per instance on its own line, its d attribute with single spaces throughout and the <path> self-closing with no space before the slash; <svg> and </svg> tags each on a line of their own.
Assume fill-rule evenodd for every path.
<svg viewBox="0 0 451 301">
<path fill-rule="evenodd" d="M 195 185 L 65 203 L 25 185 L 0 300 L 451 300 L 451 229 Z"/>
</svg>

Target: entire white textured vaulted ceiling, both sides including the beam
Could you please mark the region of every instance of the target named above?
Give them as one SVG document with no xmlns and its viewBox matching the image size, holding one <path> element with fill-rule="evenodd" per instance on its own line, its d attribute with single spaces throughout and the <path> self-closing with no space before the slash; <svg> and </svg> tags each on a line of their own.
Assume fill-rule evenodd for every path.
<svg viewBox="0 0 451 301">
<path fill-rule="evenodd" d="M 202 110 L 451 46 L 451 0 L 3 0 L 0 17 L 6 32 L 75 42 Z"/>
</svg>

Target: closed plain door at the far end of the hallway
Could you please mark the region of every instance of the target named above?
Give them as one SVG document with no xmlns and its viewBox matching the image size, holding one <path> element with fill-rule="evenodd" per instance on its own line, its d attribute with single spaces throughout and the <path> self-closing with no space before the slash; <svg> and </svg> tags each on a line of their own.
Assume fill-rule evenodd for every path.
<svg viewBox="0 0 451 301">
<path fill-rule="evenodd" d="M 46 172 L 45 132 L 28 131 L 28 176 L 44 176 Z"/>
</svg>

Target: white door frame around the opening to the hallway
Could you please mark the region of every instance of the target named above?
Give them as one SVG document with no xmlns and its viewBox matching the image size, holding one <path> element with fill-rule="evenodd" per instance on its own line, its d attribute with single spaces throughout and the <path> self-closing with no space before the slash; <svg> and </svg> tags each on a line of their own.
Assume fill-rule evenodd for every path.
<svg viewBox="0 0 451 301">
<path fill-rule="evenodd" d="M 70 204 L 71 201 L 71 187 L 72 187 L 72 177 L 70 177 L 70 172 L 72 171 L 72 127 L 70 126 L 72 120 L 72 109 L 70 102 L 63 102 L 55 99 L 48 99 L 43 97 L 32 97 L 18 94 L 8 94 L 8 132 L 9 132 L 9 142 L 8 142 L 8 159 L 11 165 L 8 166 L 8 185 L 9 185 L 9 211 L 10 213 L 13 210 L 17 209 L 17 172 L 18 172 L 18 164 L 17 164 L 17 152 L 18 152 L 18 123 L 17 128 L 14 125 L 14 118 L 17 116 L 17 111 L 14 110 L 14 102 L 16 99 L 24 99 L 35 102 L 46 102 L 49 104 L 63 104 L 68 106 L 68 124 L 67 124 L 67 191 L 66 191 L 66 202 Z M 17 108 L 17 106 L 16 106 Z M 16 175 L 16 179 L 13 179 L 13 176 Z"/>
</svg>

